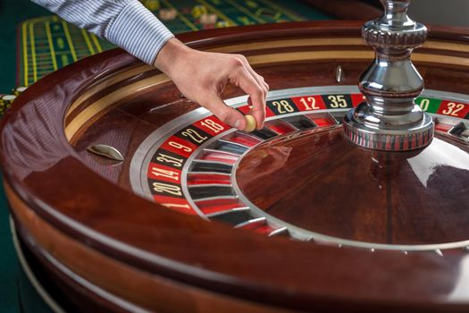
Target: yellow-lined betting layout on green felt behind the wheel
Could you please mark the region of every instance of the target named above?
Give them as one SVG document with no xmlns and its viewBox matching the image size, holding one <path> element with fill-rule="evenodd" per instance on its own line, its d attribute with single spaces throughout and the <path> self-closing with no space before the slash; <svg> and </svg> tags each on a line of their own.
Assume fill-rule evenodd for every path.
<svg viewBox="0 0 469 313">
<path fill-rule="evenodd" d="M 177 12 L 163 21 L 173 33 L 239 25 L 285 21 L 323 20 L 329 16 L 298 1 L 286 0 L 142 0 L 156 16 Z M 203 14 L 216 14 L 214 24 L 200 22 Z M 17 83 L 29 86 L 49 72 L 114 46 L 80 30 L 55 15 L 23 21 L 18 28 Z"/>
</svg>

